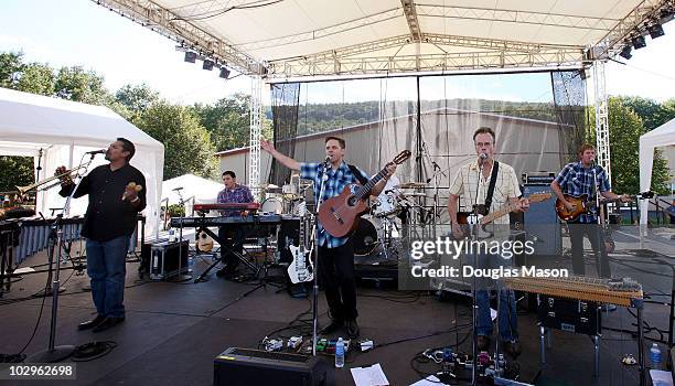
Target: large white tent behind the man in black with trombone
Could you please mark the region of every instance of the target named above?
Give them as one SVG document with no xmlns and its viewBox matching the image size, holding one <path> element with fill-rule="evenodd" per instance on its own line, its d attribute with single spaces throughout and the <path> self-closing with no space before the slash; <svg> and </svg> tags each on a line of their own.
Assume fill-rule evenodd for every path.
<svg viewBox="0 0 675 386">
<path fill-rule="evenodd" d="M 146 234 L 159 230 L 159 205 L 164 167 L 164 146 L 122 117 L 103 106 L 92 106 L 64 99 L 0 88 L 0 154 L 38 157 L 42 172 L 40 180 L 52 175 L 60 165 L 68 169 L 89 157 L 85 152 L 107 148 L 118 137 L 136 146 L 131 164 L 146 176 L 148 206 Z M 106 161 L 94 158 L 88 170 Z M 38 211 L 51 214 L 51 208 L 63 207 L 65 199 L 58 189 L 38 194 Z M 74 200 L 71 215 L 84 214 L 88 199 Z"/>
</svg>

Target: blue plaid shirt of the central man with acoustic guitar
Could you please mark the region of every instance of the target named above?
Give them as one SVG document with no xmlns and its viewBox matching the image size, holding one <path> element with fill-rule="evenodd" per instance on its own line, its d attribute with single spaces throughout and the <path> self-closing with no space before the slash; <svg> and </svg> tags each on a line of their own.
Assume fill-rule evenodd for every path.
<svg viewBox="0 0 675 386">
<path fill-rule="evenodd" d="M 369 180 L 368 176 L 358 168 L 356 168 L 361 175 Z M 314 202 L 319 202 L 319 193 L 321 192 L 321 174 L 323 172 L 323 163 L 317 162 L 301 162 L 300 163 L 300 178 L 304 180 L 312 180 L 314 182 Z M 323 190 L 323 197 L 321 202 L 332 199 L 344 190 L 344 186 L 351 183 L 360 183 L 354 173 L 350 170 L 346 162 L 342 162 L 338 170 L 329 167 L 328 181 L 325 182 L 325 189 Z M 328 246 L 329 248 L 336 248 L 344 245 L 349 237 L 334 237 L 323 229 L 321 222 L 317 223 L 317 230 L 319 232 L 319 245 Z"/>
</svg>

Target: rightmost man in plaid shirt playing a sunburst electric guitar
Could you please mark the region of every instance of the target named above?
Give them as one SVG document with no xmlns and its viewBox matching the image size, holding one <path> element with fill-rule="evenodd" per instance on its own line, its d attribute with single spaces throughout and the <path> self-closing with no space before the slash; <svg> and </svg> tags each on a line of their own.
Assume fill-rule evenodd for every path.
<svg viewBox="0 0 675 386">
<path fill-rule="evenodd" d="M 554 182 L 550 183 L 550 189 L 565 205 L 567 211 L 575 211 L 578 208 L 566 200 L 565 194 L 575 197 L 580 197 L 586 194 L 590 201 L 594 201 L 596 191 L 599 191 L 600 195 L 606 199 L 620 199 L 622 202 L 629 202 L 631 200 L 625 194 L 620 196 L 612 193 L 604 169 L 594 163 L 596 148 L 592 144 L 585 143 L 581 146 L 579 149 L 579 159 L 578 162 L 566 164 Z M 586 235 L 596 255 L 598 276 L 600 278 L 609 278 L 611 276 L 611 270 L 607 259 L 604 234 L 602 227 L 597 225 L 597 213 L 590 212 L 581 214 L 577 219 L 568 221 L 567 224 L 569 225 L 572 269 L 575 275 L 586 275 L 586 264 L 583 262 L 583 236 Z"/>
</svg>

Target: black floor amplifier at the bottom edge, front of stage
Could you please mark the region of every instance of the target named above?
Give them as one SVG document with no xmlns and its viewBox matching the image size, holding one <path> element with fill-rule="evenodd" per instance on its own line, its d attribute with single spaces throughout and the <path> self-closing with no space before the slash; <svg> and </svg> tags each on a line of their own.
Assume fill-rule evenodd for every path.
<svg viewBox="0 0 675 386">
<path fill-rule="evenodd" d="M 332 386 L 335 369 L 317 356 L 229 347 L 213 362 L 214 386 Z"/>
</svg>

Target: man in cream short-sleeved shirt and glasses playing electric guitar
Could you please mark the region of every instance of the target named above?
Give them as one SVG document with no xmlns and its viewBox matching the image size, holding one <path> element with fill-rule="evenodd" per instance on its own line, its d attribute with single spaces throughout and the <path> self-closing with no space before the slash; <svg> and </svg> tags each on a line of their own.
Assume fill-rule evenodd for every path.
<svg viewBox="0 0 675 386">
<path fill-rule="evenodd" d="M 483 204 L 486 211 L 497 211 L 506 205 L 513 205 L 515 211 L 527 211 L 529 201 L 518 199 L 521 189 L 518 178 L 510 165 L 496 162 L 494 156 L 495 135 L 491 128 L 481 127 L 473 133 L 476 160 L 463 165 L 458 171 L 450 184 L 448 213 L 452 223 L 452 234 L 456 238 L 464 237 L 464 230 L 458 221 L 458 200 L 461 197 L 462 205 L 471 211 L 472 205 Z M 486 213 L 481 213 L 486 214 Z M 493 229 L 504 228 L 508 230 L 508 216 L 501 216 L 493 222 Z M 483 255 L 478 257 L 481 266 L 507 265 L 497 255 Z M 479 268 L 479 267 L 475 267 Z M 515 309 L 515 296 L 512 290 L 499 290 L 500 310 L 499 326 L 502 347 L 513 357 L 521 353 L 517 342 L 517 318 Z M 490 315 L 490 292 L 486 289 L 475 291 L 478 304 L 478 346 L 479 350 L 488 350 L 490 336 L 493 332 Z"/>
</svg>

